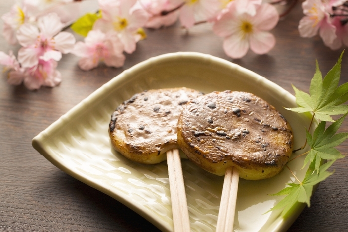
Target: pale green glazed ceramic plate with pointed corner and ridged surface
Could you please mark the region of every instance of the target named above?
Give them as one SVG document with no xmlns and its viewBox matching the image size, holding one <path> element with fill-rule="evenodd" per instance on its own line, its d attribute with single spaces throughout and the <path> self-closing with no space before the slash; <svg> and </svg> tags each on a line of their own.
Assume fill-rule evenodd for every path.
<svg viewBox="0 0 348 232">
<path fill-rule="evenodd" d="M 178 52 L 141 62 L 114 77 L 37 135 L 33 147 L 50 162 L 76 179 L 125 204 L 162 231 L 173 231 L 166 161 L 144 165 L 115 152 L 108 136 L 110 116 L 133 94 L 146 89 L 188 87 L 204 93 L 247 91 L 265 99 L 290 122 L 295 148 L 305 141 L 308 115 L 284 109 L 295 107 L 295 97 L 275 83 L 243 67 L 211 55 Z M 303 159 L 289 165 L 303 179 Z M 223 177 L 182 160 L 192 231 L 214 232 Z M 303 205 L 286 218 L 279 211 L 266 213 L 281 200 L 271 196 L 295 182 L 284 169 L 273 178 L 239 182 L 234 231 L 278 232 L 286 230 Z"/>
</svg>

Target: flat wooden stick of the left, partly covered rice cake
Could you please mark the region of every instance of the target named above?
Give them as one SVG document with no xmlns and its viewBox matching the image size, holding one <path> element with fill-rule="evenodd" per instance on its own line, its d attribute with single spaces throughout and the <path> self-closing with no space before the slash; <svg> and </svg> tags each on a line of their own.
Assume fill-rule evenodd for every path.
<svg viewBox="0 0 348 232">
<path fill-rule="evenodd" d="M 172 200 L 174 231 L 189 232 L 190 221 L 188 217 L 186 191 L 178 149 L 167 151 L 167 165 Z"/>
</svg>

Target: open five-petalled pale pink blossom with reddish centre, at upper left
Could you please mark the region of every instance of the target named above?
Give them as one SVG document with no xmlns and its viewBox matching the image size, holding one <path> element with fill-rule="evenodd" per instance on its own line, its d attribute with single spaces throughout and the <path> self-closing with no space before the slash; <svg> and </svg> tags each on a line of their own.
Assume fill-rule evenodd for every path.
<svg viewBox="0 0 348 232">
<path fill-rule="evenodd" d="M 63 24 L 56 13 L 49 13 L 38 19 L 38 27 L 26 23 L 17 33 L 23 47 L 18 51 L 18 60 L 23 67 L 33 67 L 39 59 L 59 61 L 62 53 L 69 53 L 75 44 L 75 37 L 69 32 L 60 32 Z"/>
</svg>

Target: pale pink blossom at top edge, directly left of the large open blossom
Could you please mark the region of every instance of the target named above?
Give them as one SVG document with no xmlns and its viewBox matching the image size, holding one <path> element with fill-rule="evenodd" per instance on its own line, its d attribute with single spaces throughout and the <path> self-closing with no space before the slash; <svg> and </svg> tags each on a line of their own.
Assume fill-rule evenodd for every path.
<svg viewBox="0 0 348 232">
<path fill-rule="evenodd" d="M 174 0 L 176 4 L 180 1 Z M 221 11 L 219 0 L 184 0 L 180 8 L 179 19 L 186 28 L 191 28 L 196 22 L 208 21 Z"/>
</svg>

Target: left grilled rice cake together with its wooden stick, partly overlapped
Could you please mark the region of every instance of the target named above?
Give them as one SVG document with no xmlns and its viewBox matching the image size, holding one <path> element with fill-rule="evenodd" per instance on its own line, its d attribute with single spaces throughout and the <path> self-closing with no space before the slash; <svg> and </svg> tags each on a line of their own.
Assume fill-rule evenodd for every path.
<svg viewBox="0 0 348 232">
<path fill-rule="evenodd" d="M 176 126 L 184 105 L 202 95 L 189 88 L 153 89 L 124 101 L 111 116 L 116 151 L 144 164 L 167 159 L 175 231 L 190 231 Z"/>
</svg>

